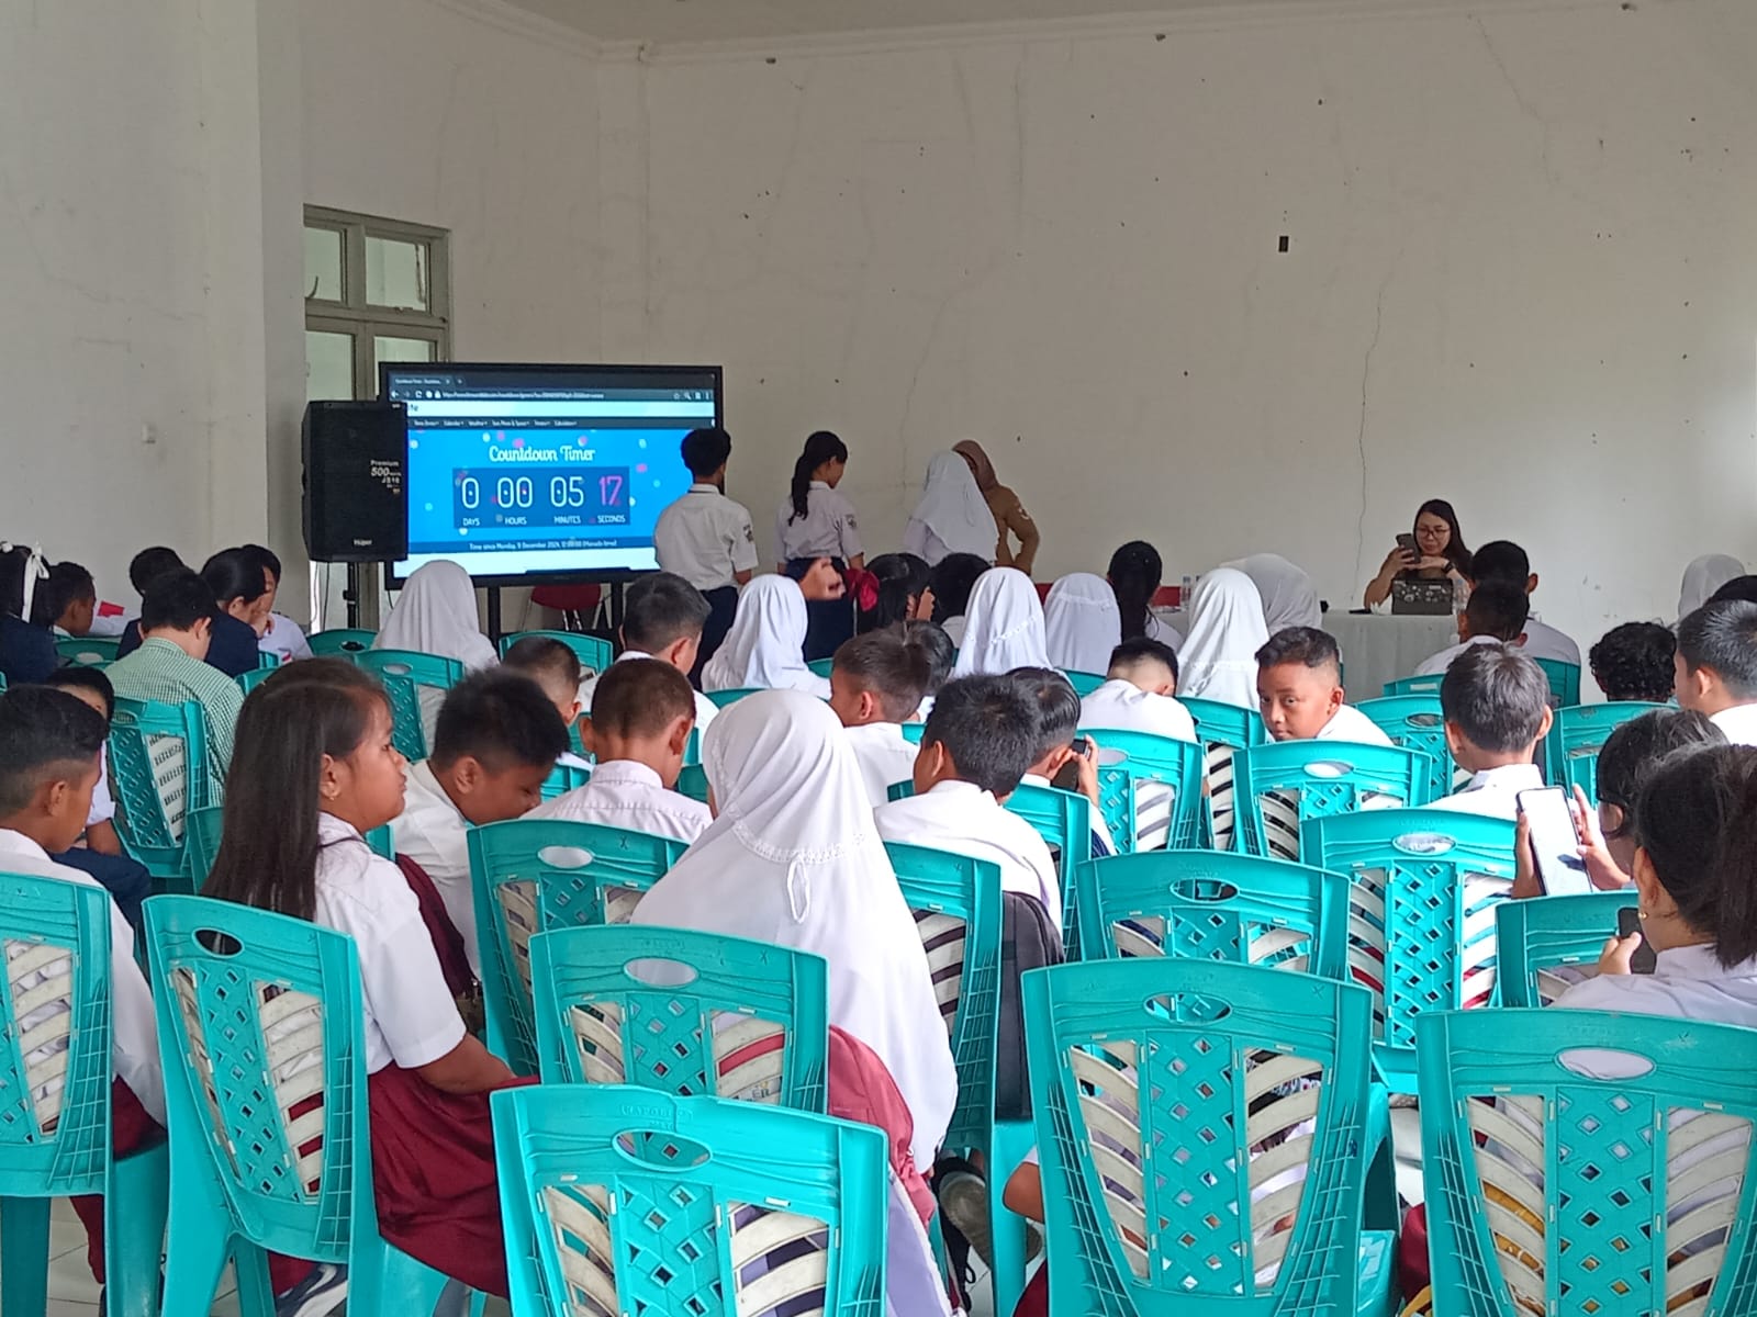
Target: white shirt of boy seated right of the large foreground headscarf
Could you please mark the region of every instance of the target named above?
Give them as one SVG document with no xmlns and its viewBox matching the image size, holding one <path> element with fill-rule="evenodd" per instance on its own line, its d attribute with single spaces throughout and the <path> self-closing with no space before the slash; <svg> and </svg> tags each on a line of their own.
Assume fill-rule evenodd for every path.
<svg viewBox="0 0 1757 1317">
<path fill-rule="evenodd" d="M 891 801 L 873 810 L 873 822 L 886 841 L 993 860 L 1000 866 L 1000 889 L 1035 896 L 1061 931 L 1061 883 L 1049 843 L 973 781 L 942 781 L 922 795 Z"/>
</svg>

